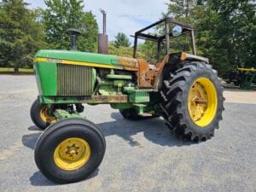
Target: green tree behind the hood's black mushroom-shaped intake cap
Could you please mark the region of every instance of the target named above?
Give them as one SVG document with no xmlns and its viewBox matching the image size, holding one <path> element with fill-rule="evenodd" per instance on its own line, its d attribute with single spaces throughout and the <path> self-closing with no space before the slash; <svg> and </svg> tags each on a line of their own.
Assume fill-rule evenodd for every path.
<svg viewBox="0 0 256 192">
<path fill-rule="evenodd" d="M 82 31 L 78 38 L 78 49 L 96 51 L 98 26 L 91 12 L 84 12 L 82 0 L 45 0 L 44 11 L 46 40 L 52 49 L 69 49 L 70 36 L 68 28 L 79 28 Z"/>
</svg>

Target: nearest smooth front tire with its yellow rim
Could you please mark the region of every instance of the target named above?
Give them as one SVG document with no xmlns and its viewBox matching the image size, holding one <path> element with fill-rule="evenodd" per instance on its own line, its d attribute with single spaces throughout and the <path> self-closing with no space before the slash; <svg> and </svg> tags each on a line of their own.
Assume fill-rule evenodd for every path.
<svg viewBox="0 0 256 192">
<path fill-rule="evenodd" d="M 63 119 L 38 138 L 35 161 L 55 183 L 84 180 L 100 166 L 106 149 L 99 128 L 86 119 Z"/>
</svg>

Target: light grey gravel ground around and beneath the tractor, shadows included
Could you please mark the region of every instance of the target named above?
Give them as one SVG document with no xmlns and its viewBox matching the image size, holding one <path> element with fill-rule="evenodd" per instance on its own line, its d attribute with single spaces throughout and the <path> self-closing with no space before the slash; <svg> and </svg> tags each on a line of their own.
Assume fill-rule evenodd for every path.
<svg viewBox="0 0 256 192">
<path fill-rule="evenodd" d="M 102 165 L 83 182 L 55 185 L 34 163 L 36 96 L 32 76 L 0 76 L 0 191 L 255 192 L 255 104 L 225 103 L 215 137 L 199 144 L 177 139 L 163 119 L 131 122 L 108 105 L 86 106 L 106 137 Z"/>
</svg>

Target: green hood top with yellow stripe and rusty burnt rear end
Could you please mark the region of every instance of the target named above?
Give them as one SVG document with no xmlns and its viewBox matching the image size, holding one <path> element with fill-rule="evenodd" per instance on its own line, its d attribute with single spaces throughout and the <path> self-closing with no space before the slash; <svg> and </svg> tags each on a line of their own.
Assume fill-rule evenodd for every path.
<svg viewBox="0 0 256 192">
<path fill-rule="evenodd" d="M 42 49 L 37 52 L 34 62 L 55 62 L 90 67 L 106 67 L 137 71 L 137 59 L 115 55 L 102 55 L 73 50 Z"/>
</svg>

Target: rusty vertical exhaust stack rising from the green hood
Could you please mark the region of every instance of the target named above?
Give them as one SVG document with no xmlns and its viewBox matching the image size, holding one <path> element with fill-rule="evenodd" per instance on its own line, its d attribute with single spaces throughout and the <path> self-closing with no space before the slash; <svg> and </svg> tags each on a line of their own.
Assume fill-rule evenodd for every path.
<svg viewBox="0 0 256 192">
<path fill-rule="evenodd" d="M 100 11 L 103 15 L 103 28 L 102 33 L 98 34 L 98 53 L 108 54 L 108 35 L 106 34 L 107 13 L 102 9 Z"/>
</svg>

